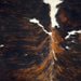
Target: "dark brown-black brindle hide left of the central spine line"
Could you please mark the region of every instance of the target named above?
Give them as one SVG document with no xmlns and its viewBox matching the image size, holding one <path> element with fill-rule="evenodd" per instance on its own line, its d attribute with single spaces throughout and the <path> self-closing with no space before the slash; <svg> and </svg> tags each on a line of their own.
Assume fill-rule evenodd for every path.
<svg viewBox="0 0 81 81">
<path fill-rule="evenodd" d="M 1 81 L 52 80 L 51 38 L 28 19 L 36 17 L 50 30 L 49 13 L 50 6 L 42 0 L 0 1 Z"/>
</svg>

